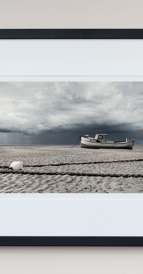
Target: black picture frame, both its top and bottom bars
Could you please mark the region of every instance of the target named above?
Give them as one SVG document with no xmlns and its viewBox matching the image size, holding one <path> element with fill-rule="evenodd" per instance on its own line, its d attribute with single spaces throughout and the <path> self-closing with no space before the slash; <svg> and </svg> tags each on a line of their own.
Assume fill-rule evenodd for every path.
<svg viewBox="0 0 143 274">
<path fill-rule="evenodd" d="M 143 39 L 143 29 L 0 29 L 0 39 Z M 143 236 L 0 236 L 0 246 L 143 246 Z"/>
</svg>

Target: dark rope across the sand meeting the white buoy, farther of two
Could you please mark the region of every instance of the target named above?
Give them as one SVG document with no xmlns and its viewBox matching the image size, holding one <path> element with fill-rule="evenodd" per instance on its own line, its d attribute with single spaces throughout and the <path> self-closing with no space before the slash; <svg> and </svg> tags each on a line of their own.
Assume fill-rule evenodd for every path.
<svg viewBox="0 0 143 274">
<path fill-rule="evenodd" d="M 134 159 L 134 160 L 116 160 L 116 161 L 96 161 L 96 162 L 80 162 L 80 163 L 59 163 L 59 164 L 35 164 L 35 165 L 24 165 L 26 167 L 43 167 L 43 166 L 70 166 L 70 165 L 86 165 L 86 164 L 106 164 L 106 163 L 120 163 L 120 162 L 140 162 L 143 159 Z M 0 165 L 0 168 L 9 168 L 7 165 Z"/>
</svg>

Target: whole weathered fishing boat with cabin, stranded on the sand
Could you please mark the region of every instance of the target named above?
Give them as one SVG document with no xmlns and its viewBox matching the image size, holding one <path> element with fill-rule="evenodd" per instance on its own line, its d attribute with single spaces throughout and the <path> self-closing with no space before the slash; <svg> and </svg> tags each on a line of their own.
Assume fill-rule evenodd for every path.
<svg viewBox="0 0 143 274">
<path fill-rule="evenodd" d="M 81 148 L 116 148 L 116 149 L 132 149 L 134 146 L 134 140 L 126 141 L 106 141 L 105 136 L 107 134 L 95 134 L 95 137 L 89 137 L 86 135 L 84 137 L 80 136 L 80 147 Z"/>
</svg>

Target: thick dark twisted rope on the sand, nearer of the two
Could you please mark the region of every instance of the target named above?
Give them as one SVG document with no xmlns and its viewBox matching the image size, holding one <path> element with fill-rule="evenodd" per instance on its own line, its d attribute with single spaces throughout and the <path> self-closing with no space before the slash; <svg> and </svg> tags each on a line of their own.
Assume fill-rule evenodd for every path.
<svg viewBox="0 0 143 274">
<path fill-rule="evenodd" d="M 34 172 L 34 171 L 24 171 L 24 170 L 0 170 L 2 174 L 23 174 L 23 175 L 69 175 L 69 176 L 88 176 L 88 177 L 124 177 L 124 178 L 143 178 L 143 174 L 110 174 L 110 173 L 79 173 L 79 172 Z"/>
</svg>

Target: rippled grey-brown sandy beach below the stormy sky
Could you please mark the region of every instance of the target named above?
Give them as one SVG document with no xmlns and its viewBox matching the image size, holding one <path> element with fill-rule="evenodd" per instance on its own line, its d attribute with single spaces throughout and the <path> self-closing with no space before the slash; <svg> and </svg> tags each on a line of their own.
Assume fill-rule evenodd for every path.
<svg viewBox="0 0 143 274">
<path fill-rule="evenodd" d="M 143 145 L 132 150 L 86 149 L 80 146 L 0 146 L 0 171 L 22 161 L 27 174 L 1 174 L 0 193 L 142 193 L 143 178 L 70 176 L 66 173 L 143 174 L 143 162 L 88 164 L 89 162 L 143 159 Z M 49 164 L 69 164 L 46 166 Z M 73 164 L 75 163 L 75 164 Z M 76 165 L 76 163 L 80 163 Z M 82 164 L 87 163 L 87 164 Z M 35 166 L 33 166 L 35 165 Z M 36 165 L 45 165 L 37 167 Z M 53 175 L 30 175 L 28 172 Z M 65 172 L 65 175 L 54 175 Z"/>
</svg>

